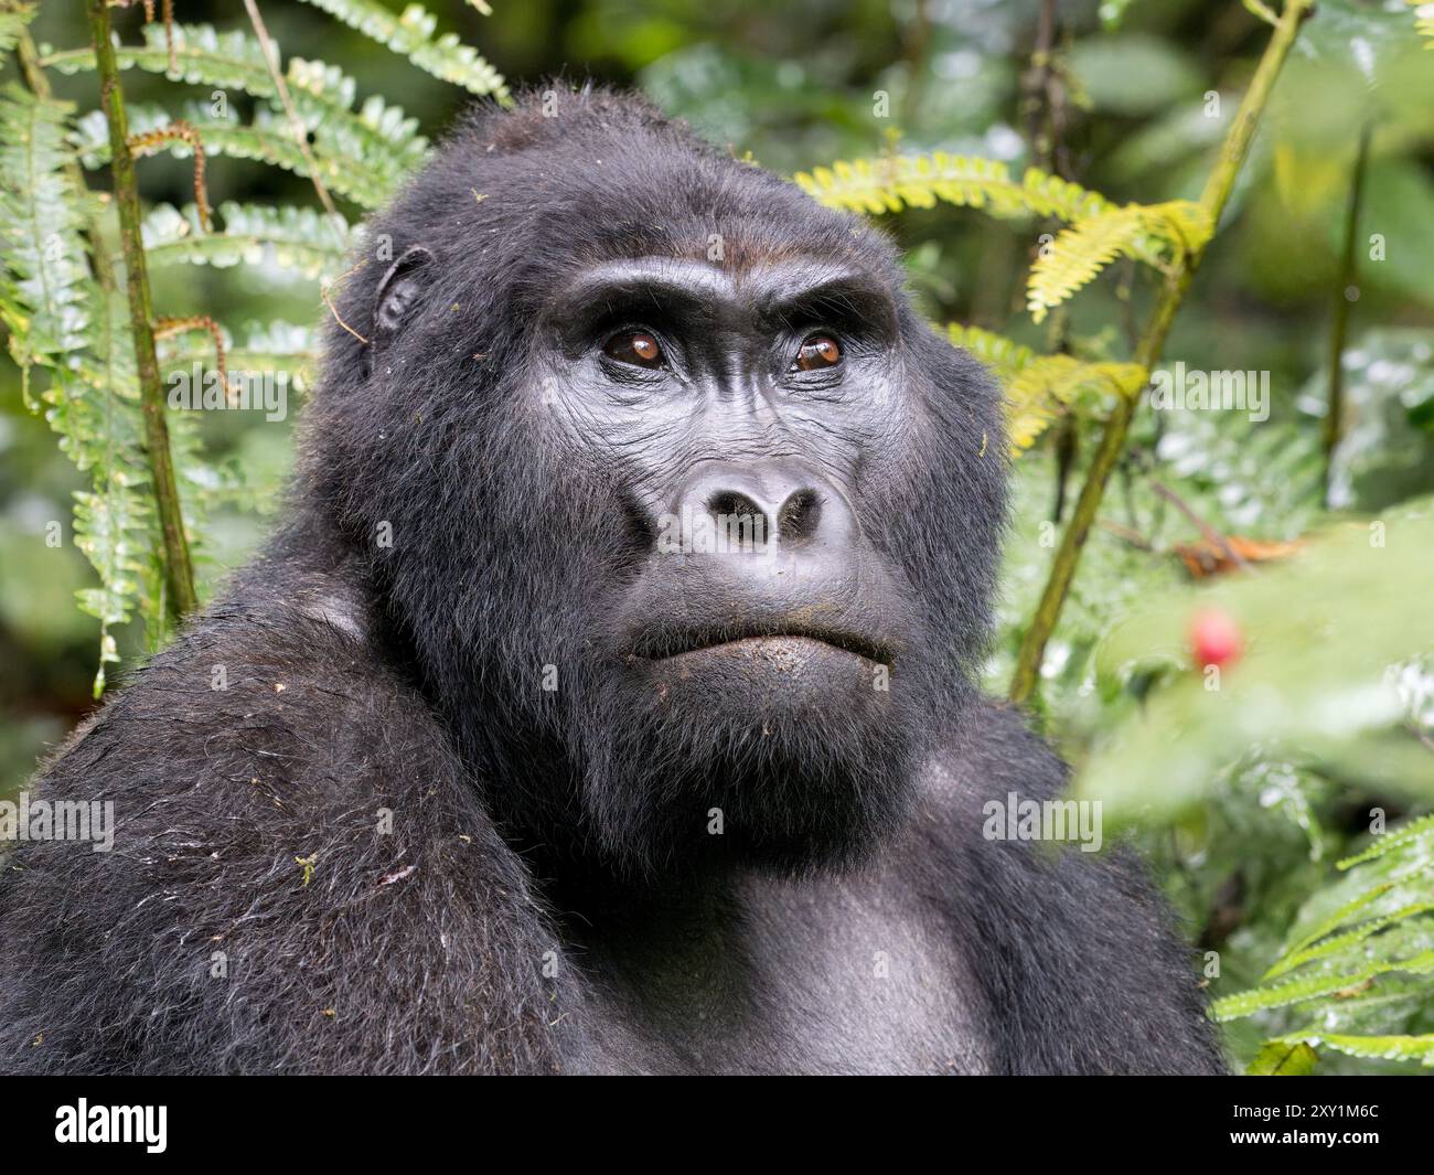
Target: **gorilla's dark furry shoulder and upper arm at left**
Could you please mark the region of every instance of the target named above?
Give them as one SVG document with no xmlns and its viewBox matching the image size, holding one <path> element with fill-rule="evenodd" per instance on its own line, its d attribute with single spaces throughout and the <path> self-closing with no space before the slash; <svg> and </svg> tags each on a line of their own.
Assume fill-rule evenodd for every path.
<svg viewBox="0 0 1434 1175">
<path fill-rule="evenodd" d="M 241 577 L 32 785 L 105 805 L 113 844 L 3 862 L 0 1070 L 552 1069 L 523 864 L 351 600 L 308 587 L 250 605 Z"/>
</svg>

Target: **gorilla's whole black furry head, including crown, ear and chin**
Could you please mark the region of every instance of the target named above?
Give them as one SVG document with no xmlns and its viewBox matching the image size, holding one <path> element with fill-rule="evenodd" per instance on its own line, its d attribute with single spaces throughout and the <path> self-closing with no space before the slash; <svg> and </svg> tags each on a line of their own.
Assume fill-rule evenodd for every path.
<svg viewBox="0 0 1434 1175">
<path fill-rule="evenodd" d="M 972 690 L 1005 452 L 892 248 L 549 92 L 470 116 L 358 263 L 305 485 L 511 832 L 627 872 L 889 828 Z"/>
</svg>

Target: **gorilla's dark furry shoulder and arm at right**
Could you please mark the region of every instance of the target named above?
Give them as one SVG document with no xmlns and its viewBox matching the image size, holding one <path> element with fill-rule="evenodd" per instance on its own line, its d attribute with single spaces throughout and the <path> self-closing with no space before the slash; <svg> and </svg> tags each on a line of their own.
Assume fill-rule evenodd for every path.
<svg viewBox="0 0 1434 1175">
<path fill-rule="evenodd" d="M 997 1069 L 1226 1072 L 1173 914 L 1129 846 L 1083 852 L 988 835 L 989 803 L 1044 806 L 1064 785 L 1065 769 L 1024 716 L 987 702 L 928 759 L 908 838 L 892 854 L 981 960 L 1002 1011 Z"/>
</svg>

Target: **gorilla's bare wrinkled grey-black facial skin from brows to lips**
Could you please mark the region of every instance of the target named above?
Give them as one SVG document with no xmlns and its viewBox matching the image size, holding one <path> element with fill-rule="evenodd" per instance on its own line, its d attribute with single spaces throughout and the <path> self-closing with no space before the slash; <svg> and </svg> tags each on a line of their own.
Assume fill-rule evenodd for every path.
<svg viewBox="0 0 1434 1175">
<path fill-rule="evenodd" d="M 912 620 L 856 506 L 859 471 L 902 440 L 880 286 L 807 260 L 641 258 L 582 273 L 541 330 L 559 443 L 621 496 L 640 567 L 612 651 L 664 690 L 711 693 L 739 667 L 763 689 L 767 666 L 793 706 L 885 693 Z"/>
</svg>

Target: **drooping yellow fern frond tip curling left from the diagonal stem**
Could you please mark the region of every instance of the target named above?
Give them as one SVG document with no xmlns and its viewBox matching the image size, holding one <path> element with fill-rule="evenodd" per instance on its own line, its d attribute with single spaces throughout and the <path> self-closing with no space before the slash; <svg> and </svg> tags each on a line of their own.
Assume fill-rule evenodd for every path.
<svg viewBox="0 0 1434 1175">
<path fill-rule="evenodd" d="M 1192 201 L 1127 204 L 1086 217 L 1041 250 L 1027 281 L 1027 308 L 1035 321 L 1090 283 L 1117 257 L 1152 260 L 1153 250 L 1190 253 L 1209 241 L 1209 214 Z"/>
</svg>

